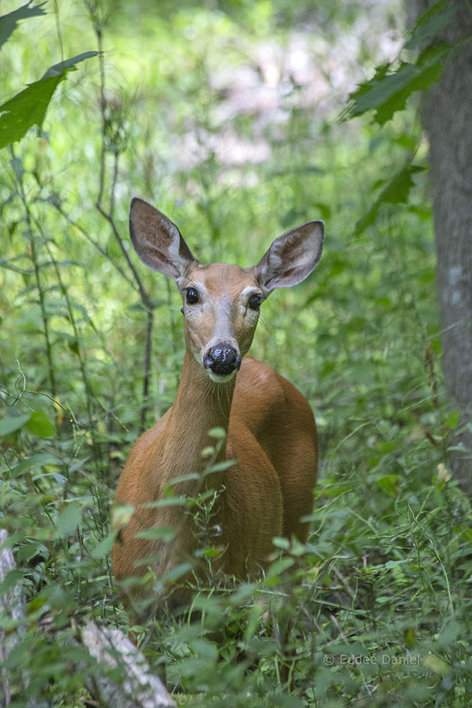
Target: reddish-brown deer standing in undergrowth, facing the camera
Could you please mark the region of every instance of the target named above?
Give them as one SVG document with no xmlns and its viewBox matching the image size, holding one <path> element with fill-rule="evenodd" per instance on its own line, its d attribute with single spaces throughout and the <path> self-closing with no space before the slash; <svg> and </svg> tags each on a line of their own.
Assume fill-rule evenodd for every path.
<svg viewBox="0 0 472 708">
<path fill-rule="evenodd" d="M 137 440 L 117 488 L 115 504 L 134 508 L 113 546 L 113 571 L 127 605 L 151 596 L 153 583 L 127 586 L 125 578 L 165 576 L 195 551 L 188 508 L 165 501 L 171 482 L 175 495 L 188 498 L 205 487 L 219 490 L 212 518 L 223 549 L 217 566 L 230 576 L 247 578 L 263 567 L 275 536 L 306 541 L 308 525 L 301 519 L 313 507 L 318 464 L 313 413 L 292 384 L 246 354 L 260 304 L 275 288 L 311 273 L 323 230 L 321 221 L 292 229 L 253 268 L 204 265 L 175 224 L 143 200 L 132 200 L 134 250 L 149 268 L 173 278 L 182 295 L 185 357 L 173 405 Z M 192 474 L 205 470 L 202 450 L 214 444 L 212 428 L 227 433 L 214 462 L 234 464 Z M 175 530 L 171 542 L 140 533 L 159 527 Z M 175 607 L 187 599 L 180 588 L 166 602 Z"/>
</svg>

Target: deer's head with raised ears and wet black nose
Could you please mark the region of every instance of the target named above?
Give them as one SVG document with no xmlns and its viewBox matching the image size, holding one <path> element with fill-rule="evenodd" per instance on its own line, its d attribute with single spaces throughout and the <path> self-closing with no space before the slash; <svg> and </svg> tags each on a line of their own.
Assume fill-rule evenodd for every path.
<svg viewBox="0 0 472 708">
<path fill-rule="evenodd" d="M 248 353 L 263 300 L 277 287 L 297 285 L 315 268 L 324 225 L 312 221 L 283 234 L 252 268 L 200 263 L 175 224 L 137 197 L 129 234 L 142 262 L 177 283 L 188 350 L 213 381 L 225 382 Z"/>
</svg>

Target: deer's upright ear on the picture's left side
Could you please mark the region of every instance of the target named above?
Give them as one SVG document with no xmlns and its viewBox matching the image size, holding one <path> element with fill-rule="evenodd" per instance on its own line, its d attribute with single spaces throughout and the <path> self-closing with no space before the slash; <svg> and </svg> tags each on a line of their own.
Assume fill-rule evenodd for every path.
<svg viewBox="0 0 472 708">
<path fill-rule="evenodd" d="M 195 261 L 175 224 L 137 197 L 129 208 L 129 237 L 144 265 L 174 280 Z"/>
</svg>

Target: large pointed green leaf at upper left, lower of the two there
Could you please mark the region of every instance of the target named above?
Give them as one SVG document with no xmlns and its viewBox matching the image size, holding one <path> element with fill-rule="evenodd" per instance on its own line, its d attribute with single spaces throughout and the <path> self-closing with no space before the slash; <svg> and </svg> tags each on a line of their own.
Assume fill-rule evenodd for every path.
<svg viewBox="0 0 472 708">
<path fill-rule="evenodd" d="M 33 125 L 40 128 L 52 95 L 67 72 L 75 69 L 75 64 L 96 57 L 98 53 L 84 52 L 65 62 L 54 64 L 42 79 L 0 105 L 0 149 L 20 140 Z"/>
</svg>

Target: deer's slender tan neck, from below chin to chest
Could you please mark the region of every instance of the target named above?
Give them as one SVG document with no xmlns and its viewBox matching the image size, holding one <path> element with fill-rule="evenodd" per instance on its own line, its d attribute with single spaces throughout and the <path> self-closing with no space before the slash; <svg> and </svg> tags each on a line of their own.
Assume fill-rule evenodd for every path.
<svg viewBox="0 0 472 708">
<path fill-rule="evenodd" d="M 180 384 L 166 426 L 160 465 L 163 484 L 192 473 L 205 473 L 212 464 L 225 459 L 226 441 L 219 452 L 209 457 L 202 457 L 202 450 L 217 445 L 209 430 L 223 428 L 228 432 L 235 382 L 236 377 L 224 384 L 212 382 L 192 354 L 185 352 Z M 217 473 L 211 476 L 213 487 L 218 484 L 216 476 Z M 173 485 L 179 496 L 193 496 L 201 487 L 198 480 Z"/>
</svg>

